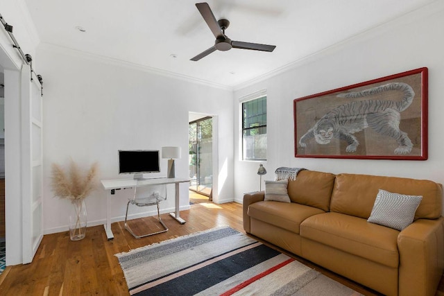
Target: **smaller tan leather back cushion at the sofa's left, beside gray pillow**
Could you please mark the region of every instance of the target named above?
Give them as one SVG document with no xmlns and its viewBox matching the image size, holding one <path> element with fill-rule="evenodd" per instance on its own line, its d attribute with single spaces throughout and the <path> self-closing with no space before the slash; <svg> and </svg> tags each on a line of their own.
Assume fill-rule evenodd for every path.
<svg viewBox="0 0 444 296">
<path fill-rule="evenodd" d="M 289 181 L 289 196 L 292 202 L 328 211 L 333 184 L 332 173 L 300 171 L 296 180 Z"/>
</svg>

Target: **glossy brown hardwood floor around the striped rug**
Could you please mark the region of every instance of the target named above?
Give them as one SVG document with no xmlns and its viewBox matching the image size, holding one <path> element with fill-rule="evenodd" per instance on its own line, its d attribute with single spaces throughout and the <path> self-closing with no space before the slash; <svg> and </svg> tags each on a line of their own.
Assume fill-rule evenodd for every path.
<svg viewBox="0 0 444 296">
<path fill-rule="evenodd" d="M 169 231 L 140 239 L 127 232 L 123 222 L 112 223 L 112 241 L 107 240 L 103 226 L 88 227 L 86 237 L 81 241 L 70 241 L 68 232 L 46 235 L 32 263 L 8 266 L 0 275 L 0 295 L 129 295 L 114 254 L 223 225 L 244 232 L 242 206 L 234 202 L 194 204 L 190 210 L 181 211 L 180 216 L 187 220 L 185 225 L 164 214 L 162 220 Z M 130 227 L 135 232 L 144 227 L 154 229 L 157 227 L 154 219 L 131 220 Z M 310 262 L 296 259 L 359 293 L 377 295 Z M 443 283 L 441 281 L 437 295 L 443 295 Z"/>
</svg>

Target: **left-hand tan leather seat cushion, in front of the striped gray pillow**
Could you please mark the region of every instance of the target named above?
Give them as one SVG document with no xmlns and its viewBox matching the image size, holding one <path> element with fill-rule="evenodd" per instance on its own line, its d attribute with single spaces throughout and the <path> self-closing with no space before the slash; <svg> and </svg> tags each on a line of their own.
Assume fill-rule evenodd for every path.
<svg viewBox="0 0 444 296">
<path fill-rule="evenodd" d="M 250 204 L 248 216 L 299 234 L 300 223 L 316 214 L 325 213 L 315 207 L 294 202 L 263 201 Z"/>
</svg>

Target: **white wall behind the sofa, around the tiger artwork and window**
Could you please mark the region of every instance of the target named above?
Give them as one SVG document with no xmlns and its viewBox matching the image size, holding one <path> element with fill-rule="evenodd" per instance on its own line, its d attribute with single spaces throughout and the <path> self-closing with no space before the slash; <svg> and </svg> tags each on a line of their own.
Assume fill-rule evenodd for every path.
<svg viewBox="0 0 444 296">
<path fill-rule="evenodd" d="M 286 71 L 237 87 L 234 128 L 239 134 L 239 98 L 268 89 L 268 155 L 264 163 L 273 180 L 280 166 L 332 173 L 363 173 L 429 179 L 444 183 L 444 2 L 433 3 L 342 44 L 296 62 Z M 294 157 L 293 100 L 420 67 L 429 68 L 429 159 L 390 161 Z M 259 190 L 258 163 L 239 161 L 239 137 L 234 146 L 234 199 Z M 264 188 L 264 186 L 262 186 Z"/>
</svg>

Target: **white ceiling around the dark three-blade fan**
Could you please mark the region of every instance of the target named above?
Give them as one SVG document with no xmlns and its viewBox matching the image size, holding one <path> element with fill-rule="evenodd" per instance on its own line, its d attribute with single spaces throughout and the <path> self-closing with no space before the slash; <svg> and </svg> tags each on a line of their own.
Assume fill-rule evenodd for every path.
<svg viewBox="0 0 444 296">
<path fill-rule="evenodd" d="M 198 62 L 189 59 L 214 36 L 196 1 L 25 1 L 42 43 L 235 87 L 438 0 L 209 0 L 216 19 L 230 20 L 232 40 L 277 47 Z"/>
</svg>

